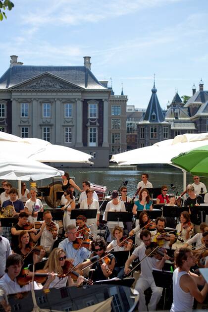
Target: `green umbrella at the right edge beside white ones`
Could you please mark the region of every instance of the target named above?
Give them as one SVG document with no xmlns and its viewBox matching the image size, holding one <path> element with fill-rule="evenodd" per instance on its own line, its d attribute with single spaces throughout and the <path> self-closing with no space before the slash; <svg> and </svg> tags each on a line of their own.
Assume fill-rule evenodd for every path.
<svg viewBox="0 0 208 312">
<path fill-rule="evenodd" d="M 208 176 L 208 145 L 181 153 L 173 157 L 171 161 L 193 175 Z"/>
</svg>

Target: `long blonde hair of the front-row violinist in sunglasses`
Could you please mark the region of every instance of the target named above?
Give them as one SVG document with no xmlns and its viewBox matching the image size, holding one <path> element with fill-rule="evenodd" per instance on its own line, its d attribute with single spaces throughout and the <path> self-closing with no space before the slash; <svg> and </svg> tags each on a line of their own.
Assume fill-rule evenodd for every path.
<svg viewBox="0 0 208 312">
<path fill-rule="evenodd" d="M 65 251 L 61 248 L 54 248 L 49 256 L 49 259 L 47 260 L 44 269 L 48 269 L 49 272 L 55 272 L 62 274 L 63 269 L 60 266 L 60 261 L 58 260 L 60 258 L 60 255 L 64 253 Z"/>
</svg>

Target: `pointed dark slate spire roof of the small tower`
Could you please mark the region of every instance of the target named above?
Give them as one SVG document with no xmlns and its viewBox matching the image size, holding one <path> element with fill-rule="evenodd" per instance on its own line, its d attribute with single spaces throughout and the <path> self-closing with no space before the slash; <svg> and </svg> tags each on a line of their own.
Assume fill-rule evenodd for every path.
<svg viewBox="0 0 208 312">
<path fill-rule="evenodd" d="M 159 101 L 156 96 L 156 87 L 155 83 L 152 89 L 152 96 L 150 98 L 150 102 L 148 104 L 147 110 L 144 116 L 141 118 L 140 122 L 163 122 L 164 115 L 162 113 L 162 109 L 159 105 Z M 153 118 L 155 116 L 155 118 Z"/>
</svg>

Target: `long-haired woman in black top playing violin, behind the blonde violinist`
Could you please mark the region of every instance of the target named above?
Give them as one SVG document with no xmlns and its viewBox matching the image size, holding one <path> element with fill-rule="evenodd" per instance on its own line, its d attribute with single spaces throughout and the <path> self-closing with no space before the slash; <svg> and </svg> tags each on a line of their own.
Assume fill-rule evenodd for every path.
<svg viewBox="0 0 208 312">
<path fill-rule="evenodd" d="M 39 256 L 35 253 L 35 249 L 32 250 L 33 244 L 30 242 L 30 235 L 27 231 L 22 231 L 19 234 L 19 245 L 14 248 L 14 252 L 22 256 L 24 261 L 24 267 L 29 264 L 40 262 L 45 256 L 44 249 L 40 250 Z"/>
</svg>

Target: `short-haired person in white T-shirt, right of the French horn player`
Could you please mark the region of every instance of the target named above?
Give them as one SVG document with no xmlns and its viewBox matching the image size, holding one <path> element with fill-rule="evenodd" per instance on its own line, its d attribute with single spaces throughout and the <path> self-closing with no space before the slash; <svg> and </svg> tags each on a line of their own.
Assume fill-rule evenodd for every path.
<svg viewBox="0 0 208 312">
<path fill-rule="evenodd" d="M 39 211 L 43 211 L 43 204 L 40 199 L 36 198 L 38 191 L 35 187 L 30 190 L 31 198 L 25 203 L 25 212 L 29 214 L 28 220 L 30 222 L 37 221 Z"/>
</svg>

